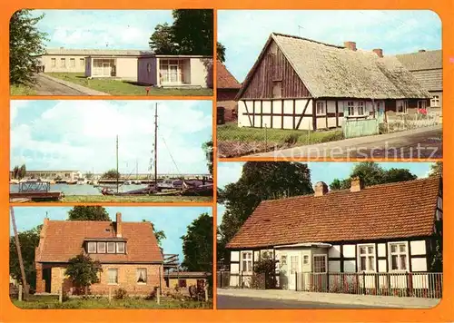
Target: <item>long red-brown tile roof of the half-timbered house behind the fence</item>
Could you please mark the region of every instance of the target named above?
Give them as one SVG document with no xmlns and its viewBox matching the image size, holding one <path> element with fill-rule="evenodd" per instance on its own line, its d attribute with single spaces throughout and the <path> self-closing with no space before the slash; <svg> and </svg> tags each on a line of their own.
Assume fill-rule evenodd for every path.
<svg viewBox="0 0 454 323">
<path fill-rule="evenodd" d="M 227 248 L 429 236 L 440 179 L 262 201 Z"/>
</svg>

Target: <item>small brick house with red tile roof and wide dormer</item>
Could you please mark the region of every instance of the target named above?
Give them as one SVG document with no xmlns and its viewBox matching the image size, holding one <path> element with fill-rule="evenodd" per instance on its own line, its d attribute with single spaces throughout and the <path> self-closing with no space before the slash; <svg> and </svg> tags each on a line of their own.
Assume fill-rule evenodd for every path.
<svg viewBox="0 0 454 323">
<path fill-rule="evenodd" d="M 44 219 L 35 250 L 36 293 L 58 293 L 63 285 L 73 294 L 64 270 L 81 252 L 102 264 L 100 282 L 90 287 L 92 294 L 122 288 L 130 295 L 149 295 L 163 287 L 163 253 L 152 223 L 123 222 L 117 213 L 115 221 Z"/>
</svg>

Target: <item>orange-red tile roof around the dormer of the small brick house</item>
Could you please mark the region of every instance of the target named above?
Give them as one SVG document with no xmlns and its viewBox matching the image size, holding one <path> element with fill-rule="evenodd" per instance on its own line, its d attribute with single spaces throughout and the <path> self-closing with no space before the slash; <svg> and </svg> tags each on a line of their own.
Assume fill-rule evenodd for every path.
<svg viewBox="0 0 454 323">
<path fill-rule="evenodd" d="M 66 262 L 84 249 L 86 238 L 115 239 L 115 222 L 44 220 L 42 238 L 36 249 L 37 262 Z M 109 229 L 109 231 L 107 231 Z M 150 222 L 122 222 L 126 254 L 90 254 L 92 259 L 107 262 L 162 262 L 163 254 Z"/>
</svg>

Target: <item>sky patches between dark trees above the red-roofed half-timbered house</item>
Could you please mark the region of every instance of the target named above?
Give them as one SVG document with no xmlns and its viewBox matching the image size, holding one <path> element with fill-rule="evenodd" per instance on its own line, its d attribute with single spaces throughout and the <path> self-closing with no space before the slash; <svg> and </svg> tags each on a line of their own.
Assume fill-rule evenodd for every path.
<svg viewBox="0 0 454 323">
<path fill-rule="evenodd" d="M 242 165 L 244 162 L 220 162 L 218 163 L 218 187 L 238 181 L 242 176 Z M 350 177 L 350 173 L 357 162 L 307 162 L 311 170 L 311 182 L 314 185 L 317 181 L 324 181 L 328 185 L 335 179 Z M 390 168 L 404 168 L 418 176 L 427 177 L 431 162 L 378 162 L 385 170 Z M 222 213 L 225 208 L 218 204 L 217 222 L 222 221 Z"/>
</svg>

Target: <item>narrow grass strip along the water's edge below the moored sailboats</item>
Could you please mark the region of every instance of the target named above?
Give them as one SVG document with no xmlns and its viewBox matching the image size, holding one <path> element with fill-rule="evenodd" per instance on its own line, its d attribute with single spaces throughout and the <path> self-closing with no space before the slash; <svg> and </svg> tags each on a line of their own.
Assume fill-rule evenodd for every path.
<svg viewBox="0 0 454 323">
<path fill-rule="evenodd" d="M 63 202 L 211 202 L 211 196 L 112 196 L 112 195 L 66 195 Z"/>
</svg>

